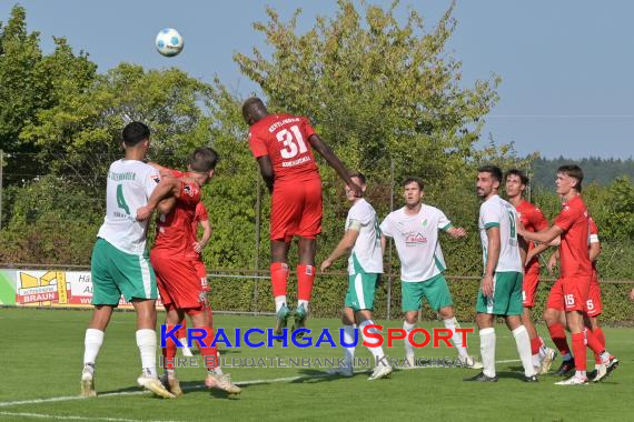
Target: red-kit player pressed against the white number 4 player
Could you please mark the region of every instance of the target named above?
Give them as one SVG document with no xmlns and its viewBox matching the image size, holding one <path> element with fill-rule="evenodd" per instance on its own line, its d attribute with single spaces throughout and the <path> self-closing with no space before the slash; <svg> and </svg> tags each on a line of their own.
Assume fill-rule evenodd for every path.
<svg viewBox="0 0 634 422">
<path fill-rule="evenodd" d="M 187 173 L 170 170 L 175 177 L 171 185 L 168 189 L 155 190 L 148 200 L 148 210 L 153 210 L 164 198 L 168 198 L 167 201 L 170 201 L 172 207 L 158 218 L 157 238 L 150 261 L 152 267 L 156 265 L 159 292 L 167 313 L 166 331 L 172 331 L 175 325 L 182 323 L 186 314 L 189 315 L 192 325 L 205 332 L 202 341 L 206 346 L 199 348 L 208 371 L 205 384 L 229 393 L 239 393 L 240 389 L 218 366 L 217 350 L 211 345 L 211 310 L 207 291 L 196 271 L 196 258 L 192 257 L 191 225 L 200 202 L 200 188 L 212 177 L 217 161 L 216 151 L 198 148 L 189 159 Z M 182 391 L 174 371 L 176 349 L 176 343 L 168 336 L 162 350 L 166 368 L 164 383 L 174 395 L 180 395 Z"/>
</svg>

